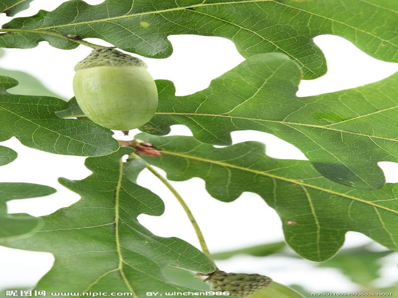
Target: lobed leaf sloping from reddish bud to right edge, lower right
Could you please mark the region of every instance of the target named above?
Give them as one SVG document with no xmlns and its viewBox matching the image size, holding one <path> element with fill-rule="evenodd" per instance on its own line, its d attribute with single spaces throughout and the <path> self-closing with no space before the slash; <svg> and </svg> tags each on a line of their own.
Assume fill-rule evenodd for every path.
<svg viewBox="0 0 398 298">
<path fill-rule="evenodd" d="M 307 259 L 332 257 L 348 230 L 398 250 L 396 184 L 354 190 L 320 176 L 308 161 L 269 158 L 257 142 L 215 149 L 192 137 L 136 138 L 164 148 L 160 157 L 144 158 L 171 180 L 202 178 L 208 193 L 223 202 L 245 191 L 259 194 L 281 217 L 286 241 Z"/>
</svg>

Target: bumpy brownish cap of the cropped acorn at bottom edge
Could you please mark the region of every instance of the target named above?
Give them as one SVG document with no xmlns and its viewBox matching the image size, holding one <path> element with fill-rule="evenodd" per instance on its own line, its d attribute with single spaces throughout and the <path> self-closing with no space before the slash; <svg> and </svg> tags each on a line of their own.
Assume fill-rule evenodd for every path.
<svg viewBox="0 0 398 298">
<path fill-rule="evenodd" d="M 210 284 L 211 291 L 228 291 L 231 296 L 247 297 L 267 287 L 272 279 L 260 274 L 226 273 L 217 270 L 204 281 Z"/>
</svg>

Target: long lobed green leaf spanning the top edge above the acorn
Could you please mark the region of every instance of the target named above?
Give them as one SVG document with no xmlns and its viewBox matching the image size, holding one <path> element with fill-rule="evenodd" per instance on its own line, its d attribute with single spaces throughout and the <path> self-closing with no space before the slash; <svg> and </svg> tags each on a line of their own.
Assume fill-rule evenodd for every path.
<svg viewBox="0 0 398 298">
<path fill-rule="evenodd" d="M 142 56 L 166 58 L 172 53 L 169 35 L 220 36 L 232 40 L 246 58 L 266 52 L 286 54 L 300 65 L 305 78 L 312 79 L 326 73 L 325 59 L 312 39 L 334 34 L 375 58 L 397 61 L 396 5 L 346 2 L 218 0 L 179 5 L 173 0 L 141 0 L 115 5 L 107 0 L 89 5 L 73 0 L 54 11 L 41 10 L 5 24 L 11 30 L 0 36 L 0 46 L 31 48 L 47 40 L 54 47 L 72 49 L 78 45 L 68 38 L 72 34 L 101 38 Z"/>
</svg>

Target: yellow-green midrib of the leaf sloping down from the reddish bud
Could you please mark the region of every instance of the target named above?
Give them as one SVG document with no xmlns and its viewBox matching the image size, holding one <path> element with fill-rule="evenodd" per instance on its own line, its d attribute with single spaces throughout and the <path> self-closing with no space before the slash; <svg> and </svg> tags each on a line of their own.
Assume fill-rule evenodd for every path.
<svg viewBox="0 0 398 298">
<path fill-rule="evenodd" d="M 374 202 L 371 201 L 366 201 L 363 200 L 361 198 L 357 198 L 354 196 L 350 196 L 347 194 L 343 194 L 343 193 L 339 193 L 337 191 L 333 191 L 330 189 L 326 189 L 320 186 L 316 186 L 316 185 L 311 185 L 305 182 L 301 182 L 300 180 L 296 180 L 296 179 L 291 179 L 291 178 L 287 178 L 287 177 L 282 177 L 282 176 L 278 176 L 278 175 L 274 175 L 274 174 L 270 174 L 268 172 L 264 172 L 264 171 L 260 171 L 260 170 L 255 170 L 255 169 L 251 169 L 251 168 L 247 168 L 247 167 L 243 167 L 243 166 L 238 166 L 238 165 L 234 165 L 234 164 L 230 164 L 230 163 L 226 163 L 226 162 L 222 162 L 222 161 L 218 161 L 218 160 L 212 160 L 212 159 L 208 159 L 208 158 L 204 158 L 204 157 L 198 157 L 198 156 L 193 156 L 193 155 L 187 155 L 184 153 L 180 153 L 180 152 L 172 152 L 172 151 L 168 151 L 168 150 L 162 150 L 162 154 L 169 154 L 169 155 L 174 155 L 174 156 L 178 156 L 178 157 L 183 157 L 183 158 L 187 158 L 187 159 L 193 159 L 193 160 L 197 160 L 197 161 L 201 161 L 201 162 L 205 162 L 205 163 L 209 163 L 209 164 L 215 164 L 215 165 L 219 165 L 222 167 L 226 167 L 226 168 L 234 168 L 234 169 L 238 169 L 241 171 L 246 171 L 246 172 L 250 172 L 250 173 L 254 173 L 257 175 L 262 175 L 262 176 L 266 176 L 269 178 L 273 178 L 273 179 L 277 179 L 277 180 L 281 180 L 281 181 L 285 181 L 285 182 L 289 182 L 289 183 L 294 183 L 297 185 L 300 185 L 301 187 L 308 187 L 308 188 L 312 188 L 315 190 L 319 190 L 319 191 L 323 191 L 326 193 L 329 193 L 331 195 L 336 195 L 336 196 L 340 196 L 340 197 L 344 197 L 347 199 L 351 199 L 353 201 L 356 202 L 360 202 L 366 205 L 370 205 L 379 209 L 383 209 L 385 211 L 389 211 L 392 213 L 396 213 L 398 214 L 398 210 L 394 210 L 385 206 L 381 206 L 378 204 L 375 204 Z"/>
</svg>

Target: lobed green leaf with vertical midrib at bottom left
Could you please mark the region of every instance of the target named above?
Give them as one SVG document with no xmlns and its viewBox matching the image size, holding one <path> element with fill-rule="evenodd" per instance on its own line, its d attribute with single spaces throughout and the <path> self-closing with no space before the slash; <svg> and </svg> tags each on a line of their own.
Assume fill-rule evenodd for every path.
<svg viewBox="0 0 398 298">
<path fill-rule="evenodd" d="M 162 270 L 169 265 L 214 271 L 212 262 L 195 247 L 178 238 L 156 236 L 139 224 L 138 215 L 159 216 L 164 205 L 158 196 L 123 175 L 120 158 L 131 152 L 131 148 L 121 148 L 109 155 L 89 157 L 86 166 L 92 175 L 80 181 L 59 179 L 82 196 L 78 203 L 43 217 L 44 226 L 31 238 L 0 242 L 54 254 L 54 267 L 37 289 L 112 289 L 144 297 L 151 287 L 156 291 L 189 290 L 165 278 Z"/>
</svg>

